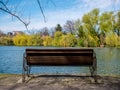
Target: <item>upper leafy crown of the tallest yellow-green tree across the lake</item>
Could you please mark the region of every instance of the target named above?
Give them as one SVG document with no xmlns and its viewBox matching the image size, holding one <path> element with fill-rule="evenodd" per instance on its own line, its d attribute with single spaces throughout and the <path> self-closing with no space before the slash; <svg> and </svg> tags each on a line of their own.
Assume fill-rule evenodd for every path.
<svg viewBox="0 0 120 90">
<path fill-rule="evenodd" d="M 86 32 L 90 32 L 91 34 L 93 34 L 93 36 L 99 36 L 98 20 L 99 20 L 99 9 L 97 8 L 85 14 L 82 17 L 82 22 Z"/>
</svg>

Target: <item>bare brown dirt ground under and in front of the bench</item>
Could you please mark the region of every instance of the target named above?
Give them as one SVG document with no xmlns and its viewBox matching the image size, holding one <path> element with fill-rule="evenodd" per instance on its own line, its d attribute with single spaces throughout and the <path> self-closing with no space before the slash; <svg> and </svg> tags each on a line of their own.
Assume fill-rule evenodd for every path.
<svg viewBox="0 0 120 90">
<path fill-rule="evenodd" d="M 0 74 L 0 90 L 120 90 L 120 76 L 32 75 L 26 83 L 21 75 Z"/>
</svg>

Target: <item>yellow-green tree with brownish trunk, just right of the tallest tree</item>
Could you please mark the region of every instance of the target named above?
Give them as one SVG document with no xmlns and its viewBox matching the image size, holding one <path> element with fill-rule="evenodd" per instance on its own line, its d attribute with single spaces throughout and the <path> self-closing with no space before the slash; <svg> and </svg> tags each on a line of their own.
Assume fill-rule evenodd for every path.
<svg viewBox="0 0 120 90">
<path fill-rule="evenodd" d="M 100 16 L 99 28 L 100 28 L 100 43 L 105 44 L 105 37 L 107 33 L 114 32 L 114 15 L 113 12 L 104 12 Z"/>
</svg>

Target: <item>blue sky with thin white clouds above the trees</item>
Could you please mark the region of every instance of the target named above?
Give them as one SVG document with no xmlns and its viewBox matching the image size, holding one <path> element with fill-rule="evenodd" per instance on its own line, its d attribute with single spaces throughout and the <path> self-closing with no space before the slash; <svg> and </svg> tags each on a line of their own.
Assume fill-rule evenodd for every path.
<svg viewBox="0 0 120 90">
<path fill-rule="evenodd" d="M 25 21 L 30 20 L 29 30 L 52 28 L 57 24 L 63 26 L 67 20 L 81 19 L 85 13 L 94 8 L 99 8 L 101 12 L 120 10 L 120 0 L 40 0 L 40 2 L 46 22 L 36 0 L 9 0 L 7 5 Z M 0 30 L 12 32 L 25 31 L 26 28 L 18 19 L 0 10 Z"/>
</svg>

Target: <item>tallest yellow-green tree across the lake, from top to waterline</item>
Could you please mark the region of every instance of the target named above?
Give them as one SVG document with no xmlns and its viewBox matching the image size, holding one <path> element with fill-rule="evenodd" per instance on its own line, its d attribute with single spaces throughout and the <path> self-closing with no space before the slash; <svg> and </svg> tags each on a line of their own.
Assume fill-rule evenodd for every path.
<svg viewBox="0 0 120 90">
<path fill-rule="evenodd" d="M 98 46 L 99 44 L 99 9 L 93 9 L 82 17 L 85 33 L 85 46 Z"/>
</svg>

